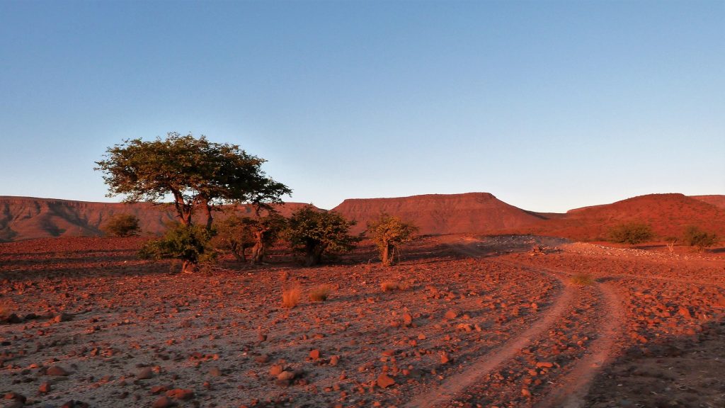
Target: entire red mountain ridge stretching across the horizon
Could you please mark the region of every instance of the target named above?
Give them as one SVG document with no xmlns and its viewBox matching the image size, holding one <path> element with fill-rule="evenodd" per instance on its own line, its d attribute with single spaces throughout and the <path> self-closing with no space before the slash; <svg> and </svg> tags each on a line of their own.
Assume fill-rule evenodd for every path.
<svg viewBox="0 0 725 408">
<path fill-rule="evenodd" d="M 306 204 L 278 207 L 289 216 Z M 252 208 L 241 206 L 252 215 Z M 615 203 L 574 208 L 566 213 L 525 211 L 487 192 L 427 194 L 392 198 L 354 198 L 334 208 L 357 221 L 352 232 L 363 232 L 381 213 L 413 221 L 421 234 L 542 234 L 573 240 L 600 240 L 608 229 L 624 222 L 651 224 L 658 237 L 679 236 L 696 225 L 725 237 L 725 195 L 652 194 Z M 117 213 L 132 213 L 142 234 L 161 234 L 175 220 L 170 204 L 91 203 L 36 197 L 0 196 L 0 242 L 45 237 L 102 234 L 100 227 Z M 216 213 L 215 218 L 220 218 Z M 200 220 L 201 221 L 201 220 Z"/>
</svg>

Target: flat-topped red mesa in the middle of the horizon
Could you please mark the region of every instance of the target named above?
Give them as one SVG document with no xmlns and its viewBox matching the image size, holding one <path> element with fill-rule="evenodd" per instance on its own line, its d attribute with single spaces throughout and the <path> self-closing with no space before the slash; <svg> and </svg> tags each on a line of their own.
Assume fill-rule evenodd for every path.
<svg viewBox="0 0 725 408">
<path fill-rule="evenodd" d="M 429 194 L 397 198 L 348 199 L 333 209 L 357 221 L 353 232 L 363 232 L 381 213 L 412 221 L 421 234 L 492 232 L 523 227 L 541 219 L 498 200 L 487 192 Z"/>
</svg>

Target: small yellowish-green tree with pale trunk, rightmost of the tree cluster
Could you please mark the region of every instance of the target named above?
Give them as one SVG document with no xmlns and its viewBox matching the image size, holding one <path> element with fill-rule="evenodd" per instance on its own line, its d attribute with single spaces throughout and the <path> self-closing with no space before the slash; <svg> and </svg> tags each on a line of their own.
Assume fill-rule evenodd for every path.
<svg viewBox="0 0 725 408">
<path fill-rule="evenodd" d="M 397 248 L 404 242 L 410 242 L 418 232 L 413 223 L 403 222 L 396 216 L 381 214 L 375 221 L 368 222 L 368 236 L 380 250 L 384 266 L 395 264 Z"/>
</svg>

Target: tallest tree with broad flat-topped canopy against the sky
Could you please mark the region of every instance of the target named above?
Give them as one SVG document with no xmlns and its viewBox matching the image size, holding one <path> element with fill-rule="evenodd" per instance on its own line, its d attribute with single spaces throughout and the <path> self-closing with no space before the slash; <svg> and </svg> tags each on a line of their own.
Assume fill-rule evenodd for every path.
<svg viewBox="0 0 725 408">
<path fill-rule="evenodd" d="M 125 195 L 126 202 L 159 203 L 170 195 L 183 227 L 193 226 L 194 211 L 200 208 L 207 216 L 206 229 L 211 231 L 212 210 L 217 205 L 250 203 L 265 208 L 281 203 L 281 196 L 291 193 L 262 171 L 265 161 L 236 144 L 169 133 L 165 139 L 127 139 L 109 147 L 105 160 L 96 162 L 96 170 L 104 172 L 109 197 Z M 184 272 L 196 269 L 196 258 L 192 258 L 182 258 Z"/>
</svg>

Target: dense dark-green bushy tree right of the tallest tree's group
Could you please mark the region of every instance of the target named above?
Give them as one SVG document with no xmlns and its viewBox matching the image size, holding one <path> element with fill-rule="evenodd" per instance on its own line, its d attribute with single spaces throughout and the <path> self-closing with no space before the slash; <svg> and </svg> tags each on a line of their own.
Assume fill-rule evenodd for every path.
<svg viewBox="0 0 725 408">
<path fill-rule="evenodd" d="M 305 254 L 305 266 L 315 266 L 322 261 L 325 251 L 344 252 L 355 248 L 360 237 L 349 234 L 353 225 L 355 221 L 347 221 L 339 213 L 305 205 L 289 218 L 286 235 L 292 248 Z"/>
</svg>

